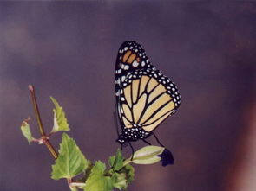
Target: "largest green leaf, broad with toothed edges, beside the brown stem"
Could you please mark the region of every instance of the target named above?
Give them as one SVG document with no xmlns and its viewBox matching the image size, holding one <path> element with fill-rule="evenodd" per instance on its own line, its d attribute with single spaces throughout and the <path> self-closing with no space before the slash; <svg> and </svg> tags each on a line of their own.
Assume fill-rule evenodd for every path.
<svg viewBox="0 0 256 191">
<path fill-rule="evenodd" d="M 51 178 L 55 180 L 72 178 L 84 172 L 87 167 L 88 161 L 75 144 L 75 140 L 63 133 L 59 156 L 56 163 L 52 165 Z"/>
</svg>

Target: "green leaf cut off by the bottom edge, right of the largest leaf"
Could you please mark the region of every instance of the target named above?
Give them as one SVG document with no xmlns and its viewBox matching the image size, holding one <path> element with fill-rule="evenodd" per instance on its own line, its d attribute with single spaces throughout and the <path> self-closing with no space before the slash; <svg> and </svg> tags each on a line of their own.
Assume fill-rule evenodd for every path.
<svg viewBox="0 0 256 191">
<path fill-rule="evenodd" d="M 85 182 L 86 191 L 111 191 L 113 189 L 112 181 L 109 176 L 105 176 L 106 165 L 100 161 L 95 162 L 91 169 L 89 178 Z"/>
</svg>

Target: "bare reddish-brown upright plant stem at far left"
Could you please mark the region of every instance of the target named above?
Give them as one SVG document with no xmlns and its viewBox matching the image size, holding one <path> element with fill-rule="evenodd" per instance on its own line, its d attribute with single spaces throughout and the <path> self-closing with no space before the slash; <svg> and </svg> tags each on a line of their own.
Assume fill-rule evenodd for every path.
<svg viewBox="0 0 256 191">
<path fill-rule="evenodd" d="M 39 112 L 39 109 L 38 109 L 38 105 L 37 105 L 37 102 L 36 102 L 36 94 L 35 94 L 34 86 L 30 85 L 29 90 L 30 90 L 30 96 L 31 96 L 31 99 L 32 99 L 32 104 L 33 104 L 35 114 L 36 114 L 36 120 L 37 120 L 37 124 L 38 124 L 38 127 L 39 127 L 39 131 L 40 131 L 40 134 L 43 138 L 43 143 L 47 146 L 50 154 L 56 159 L 58 157 L 58 154 L 57 154 L 56 150 L 54 149 L 54 147 L 52 146 L 52 144 L 49 142 L 49 140 L 48 140 L 48 138 L 45 134 L 44 128 L 43 128 L 42 119 L 41 119 L 40 112 Z"/>
</svg>

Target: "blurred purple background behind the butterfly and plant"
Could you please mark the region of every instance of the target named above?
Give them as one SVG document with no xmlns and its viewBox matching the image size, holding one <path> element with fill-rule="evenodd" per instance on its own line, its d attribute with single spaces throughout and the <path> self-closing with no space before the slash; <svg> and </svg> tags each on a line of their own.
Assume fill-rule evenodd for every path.
<svg viewBox="0 0 256 191">
<path fill-rule="evenodd" d="M 53 96 L 86 157 L 107 162 L 115 153 L 114 68 L 126 40 L 141 43 L 182 98 L 155 131 L 174 166 L 135 165 L 128 190 L 255 190 L 241 185 L 256 182 L 256 160 L 243 166 L 256 156 L 246 154 L 256 150 L 248 141 L 256 139 L 256 3 L 1 2 L 0 29 L 1 190 L 69 190 L 50 179 L 49 151 L 19 130 L 31 116 L 39 136 L 29 84 L 48 131 Z M 60 140 L 52 138 L 56 148 Z"/>
</svg>

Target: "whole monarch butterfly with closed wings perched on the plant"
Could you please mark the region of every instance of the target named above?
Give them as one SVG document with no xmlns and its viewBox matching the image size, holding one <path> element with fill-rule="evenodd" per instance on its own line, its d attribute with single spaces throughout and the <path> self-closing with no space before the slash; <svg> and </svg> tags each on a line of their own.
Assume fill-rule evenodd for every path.
<svg viewBox="0 0 256 191">
<path fill-rule="evenodd" d="M 135 41 L 124 41 L 119 48 L 115 98 L 122 129 L 116 141 L 121 147 L 129 144 L 132 150 L 130 142 L 141 139 L 148 143 L 145 139 L 154 135 L 155 128 L 181 105 L 174 82 L 151 64 L 144 49 Z"/>
</svg>

